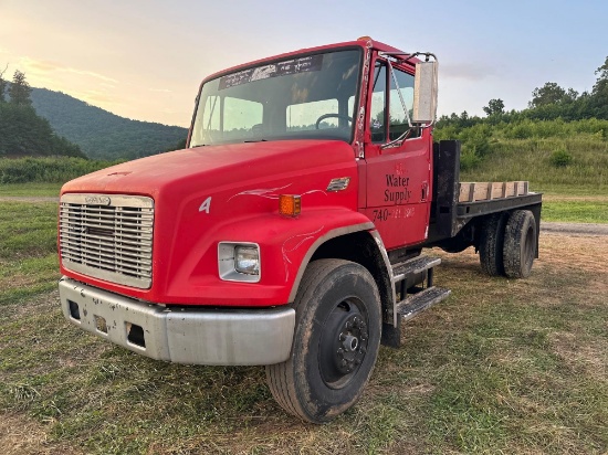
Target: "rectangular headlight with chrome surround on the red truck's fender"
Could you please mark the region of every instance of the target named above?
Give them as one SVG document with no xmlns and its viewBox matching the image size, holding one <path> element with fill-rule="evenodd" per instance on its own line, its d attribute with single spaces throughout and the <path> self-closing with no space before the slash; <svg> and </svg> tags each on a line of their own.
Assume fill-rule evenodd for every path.
<svg viewBox="0 0 608 455">
<path fill-rule="evenodd" d="M 261 275 L 260 245 L 245 242 L 220 242 L 220 278 L 227 282 L 258 283 Z"/>
</svg>

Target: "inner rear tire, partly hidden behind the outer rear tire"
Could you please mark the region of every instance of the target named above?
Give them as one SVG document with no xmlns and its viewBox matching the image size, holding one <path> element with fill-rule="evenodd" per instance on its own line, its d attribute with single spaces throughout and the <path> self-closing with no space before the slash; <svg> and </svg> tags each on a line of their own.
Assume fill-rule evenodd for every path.
<svg viewBox="0 0 608 455">
<path fill-rule="evenodd" d="M 509 215 L 495 213 L 482 225 L 480 236 L 480 263 L 482 271 L 490 276 L 504 275 L 504 230 Z"/>
</svg>

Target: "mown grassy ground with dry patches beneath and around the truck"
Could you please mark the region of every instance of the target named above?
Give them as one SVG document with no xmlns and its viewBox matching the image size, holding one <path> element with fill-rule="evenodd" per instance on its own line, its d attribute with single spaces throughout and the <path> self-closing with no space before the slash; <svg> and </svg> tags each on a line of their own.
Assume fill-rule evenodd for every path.
<svg viewBox="0 0 608 455">
<path fill-rule="evenodd" d="M 262 368 L 157 362 L 66 322 L 55 218 L 55 203 L 0 202 L 4 454 L 608 449 L 606 237 L 543 234 L 525 281 L 437 252 L 450 299 L 381 348 L 355 409 L 315 426 L 282 412 Z"/>
</svg>

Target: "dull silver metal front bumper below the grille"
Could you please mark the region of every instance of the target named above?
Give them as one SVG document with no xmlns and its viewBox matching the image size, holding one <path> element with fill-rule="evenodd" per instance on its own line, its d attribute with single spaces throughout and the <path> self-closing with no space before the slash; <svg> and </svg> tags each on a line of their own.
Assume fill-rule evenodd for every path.
<svg viewBox="0 0 608 455">
<path fill-rule="evenodd" d="M 59 290 L 69 321 L 151 359 L 252 366 L 280 363 L 290 357 L 293 308 L 171 308 L 66 277 L 60 279 Z"/>
</svg>

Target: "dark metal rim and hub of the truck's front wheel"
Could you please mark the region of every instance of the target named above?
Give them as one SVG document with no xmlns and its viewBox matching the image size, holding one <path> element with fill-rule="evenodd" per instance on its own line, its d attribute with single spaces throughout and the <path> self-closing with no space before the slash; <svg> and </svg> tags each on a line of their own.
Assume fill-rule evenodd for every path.
<svg viewBox="0 0 608 455">
<path fill-rule="evenodd" d="M 318 369 L 323 382 L 342 389 L 357 374 L 369 341 L 365 306 L 358 298 L 338 303 L 323 325 Z"/>
</svg>

